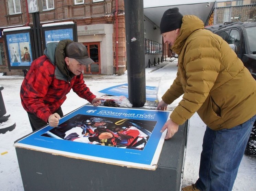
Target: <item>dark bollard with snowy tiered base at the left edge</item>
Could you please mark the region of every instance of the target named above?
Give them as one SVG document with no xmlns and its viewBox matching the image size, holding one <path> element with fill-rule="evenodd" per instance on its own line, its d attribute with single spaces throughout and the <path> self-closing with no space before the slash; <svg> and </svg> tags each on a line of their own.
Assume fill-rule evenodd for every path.
<svg viewBox="0 0 256 191">
<path fill-rule="evenodd" d="M 4 134 L 7 131 L 12 131 L 16 126 L 15 122 L 8 119 L 10 117 L 10 114 L 6 114 L 2 90 L 3 86 L 0 85 L 0 134 Z"/>
</svg>

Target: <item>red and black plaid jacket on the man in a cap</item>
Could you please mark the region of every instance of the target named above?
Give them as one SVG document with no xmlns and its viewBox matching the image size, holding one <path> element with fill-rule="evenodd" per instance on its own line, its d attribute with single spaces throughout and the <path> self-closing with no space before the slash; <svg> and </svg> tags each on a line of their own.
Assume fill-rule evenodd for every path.
<svg viewBox="0 0 256 191">
<path fill-rule="evenodd" d="M 47 122 L 66 100 L 71 88 L 90 103 L 96 97 L 84 83 L 82 73 L 67 81 L 56 79 L 55 66 L 47 56 L 40 56 L 32 62 L 22 82 L 21 104 L 27 112 Z"/>
</svg>

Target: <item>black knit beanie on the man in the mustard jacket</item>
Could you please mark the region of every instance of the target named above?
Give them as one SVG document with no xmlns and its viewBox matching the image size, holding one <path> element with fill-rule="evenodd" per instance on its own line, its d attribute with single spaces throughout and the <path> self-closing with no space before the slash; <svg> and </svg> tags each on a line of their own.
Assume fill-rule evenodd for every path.
<svg viewBox="0 0 256 191">
<path fill-rule="evenodd" d="M 175 7 L 164 12 L 161 23 L 161 34 L 181 28 L 183 15 L 179 12 L 179 8 Z"/>
</svg>

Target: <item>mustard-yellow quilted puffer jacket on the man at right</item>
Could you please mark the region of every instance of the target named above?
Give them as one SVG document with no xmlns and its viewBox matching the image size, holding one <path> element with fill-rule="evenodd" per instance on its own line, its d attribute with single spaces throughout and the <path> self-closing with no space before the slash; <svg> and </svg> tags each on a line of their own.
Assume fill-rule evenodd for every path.
<svg viewBox="0 0 256 191">
<path fill-rule="evenodd" d="M 172 46 L 179 55 L 177 77 L 163 95 L 166 104 L 183 99 L 170 118 L 183 124 L 195 112 L 213 130 L 231 128 L 256 114 L 256 81 L 221 37 L 185 15 Z"/>
</svg>

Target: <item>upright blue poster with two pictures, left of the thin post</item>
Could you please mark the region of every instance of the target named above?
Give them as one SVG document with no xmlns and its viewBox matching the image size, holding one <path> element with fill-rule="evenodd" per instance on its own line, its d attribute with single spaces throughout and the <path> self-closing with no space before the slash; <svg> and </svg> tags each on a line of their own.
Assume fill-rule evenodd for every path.
<svg viewBox="0 0 256 191">
<path fill-rule="evenodd" d="M 30 66 L 32 59 L 30 33 L 6 35 L 10 66 Z"/>
</svg>

